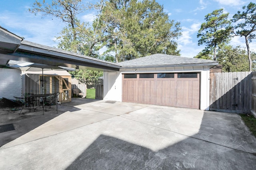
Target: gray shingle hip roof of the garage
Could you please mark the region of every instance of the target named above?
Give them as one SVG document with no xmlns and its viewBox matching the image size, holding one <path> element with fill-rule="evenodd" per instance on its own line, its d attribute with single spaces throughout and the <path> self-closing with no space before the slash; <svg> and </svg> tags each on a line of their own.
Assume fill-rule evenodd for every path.
<svg viewBox="0 0 256 170">
<path fill-rule="evenodd" d="M 138 59 L 118 63 L 122 68 L 127 67 L 148 67 L 148 66 L 175 66 L 175 65 L 218 65 L 217 61 L 180 57 L 165 54 L 153 54 Z"/>
</svg>

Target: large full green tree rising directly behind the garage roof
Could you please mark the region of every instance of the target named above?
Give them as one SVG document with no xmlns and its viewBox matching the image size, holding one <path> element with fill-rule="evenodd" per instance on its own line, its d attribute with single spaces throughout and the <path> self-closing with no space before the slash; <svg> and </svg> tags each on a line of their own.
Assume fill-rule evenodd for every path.
<svg viewBox="0 0 256 170">
<path fill-rule="evenodd" d="M 116 62 L 155 53 L 179 55 L 174 40 L 181 35 L 180 23 L 169 20 L 155 0 L 109 0 L 102 16 L 108 25 L 106 54 Z"/>
</svg>

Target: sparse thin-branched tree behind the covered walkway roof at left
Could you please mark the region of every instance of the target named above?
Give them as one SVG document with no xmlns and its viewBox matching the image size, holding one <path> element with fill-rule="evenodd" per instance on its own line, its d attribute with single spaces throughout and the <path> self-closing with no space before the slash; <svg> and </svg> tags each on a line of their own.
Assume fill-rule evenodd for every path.
<svg viewBox="0 0 256 170">
<path fill-rule="evenodd" d="M 103 1 L 101 1 L 103 2 Z M 95 7 L 99 5 L 96 4 Z M 98 27 L 89 27 L 87 23 L 80 23 L 77 15 L 84 12 L 86 7 L 82 4 L 82 0 L 52 0 L 52 4 L 48 4 L 43 0 L 33 4 L 29 12 L 35 15 L 40 13 L 42 17 L 52 16 L 61 19 L 66 26 L 60 32 L 57 39 L 60 40 L 58 48 L 90 57 L 98 57 L 98 49 L 101 40 L 98 40 L 96 33 Z M 71 72 L 82 83 L 92 83 L 102 76 L 102 72 L 93 70 L 80 69 Z M 77 75 L 74 75 L 77 74 Z"/>
</svg>

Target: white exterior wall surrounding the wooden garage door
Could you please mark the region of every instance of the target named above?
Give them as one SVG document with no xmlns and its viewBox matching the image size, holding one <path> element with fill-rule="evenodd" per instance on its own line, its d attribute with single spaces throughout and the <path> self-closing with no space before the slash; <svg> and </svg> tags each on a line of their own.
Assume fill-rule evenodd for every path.
<svg viewBox="0 0 256 170">
<path fill-rule="evenodd" d="M 104 99 L 122 102 L 122 73 L 200 72 L 200 109 L 209 110 L 210 66 L 120 69 L 104 72 Z"/>
</svg>

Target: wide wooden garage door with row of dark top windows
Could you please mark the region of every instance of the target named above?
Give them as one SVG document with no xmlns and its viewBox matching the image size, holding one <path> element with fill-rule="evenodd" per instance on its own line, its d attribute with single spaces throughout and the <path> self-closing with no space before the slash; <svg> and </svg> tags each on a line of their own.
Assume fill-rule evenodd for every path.
<svg viewBox="0 0 256 170">
<path fill-rule="evenodd" d="M 123 74 L 123 102 L 199 108 L 199 73 Z"/>
</svg>

